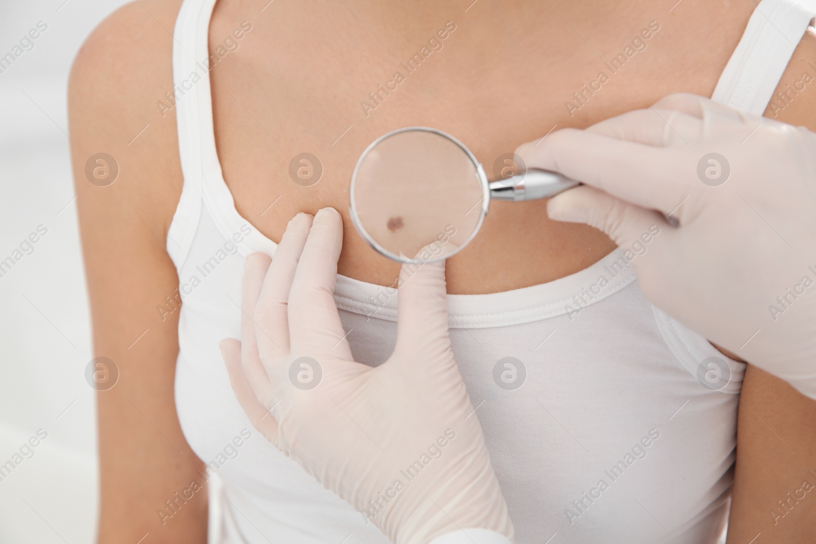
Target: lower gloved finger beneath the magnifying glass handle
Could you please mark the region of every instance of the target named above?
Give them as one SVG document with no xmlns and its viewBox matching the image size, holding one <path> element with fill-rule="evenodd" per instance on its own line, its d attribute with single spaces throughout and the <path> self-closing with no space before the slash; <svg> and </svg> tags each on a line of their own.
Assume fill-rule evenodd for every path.
<svg viewBox="0 0 816 544">
<path fill-rule="evenodd" d="M 586 185 L 562 192 L 547 203 L 550 219 L 587 223 L 605 232 L 620 247 L 628 247 L 653 225 L 671 228 L 663 215 L 619 200 Z"/>
</svg>

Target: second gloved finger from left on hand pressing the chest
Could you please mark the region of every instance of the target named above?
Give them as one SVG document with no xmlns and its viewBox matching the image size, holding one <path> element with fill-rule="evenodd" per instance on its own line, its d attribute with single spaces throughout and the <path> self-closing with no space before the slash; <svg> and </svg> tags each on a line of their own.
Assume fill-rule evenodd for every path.
<svg viewBox="0 0 816 544">
<path fill-rule="evenodd" d="M 255 396 L 259 399 L 269 394 L 270 386 L 266 369 L 258 356 L 255 307 L 269 263 L 271 260 L 262 253 L 247 255 L 241 294 L 241 365 L 255 391 Z"/>
</svg>

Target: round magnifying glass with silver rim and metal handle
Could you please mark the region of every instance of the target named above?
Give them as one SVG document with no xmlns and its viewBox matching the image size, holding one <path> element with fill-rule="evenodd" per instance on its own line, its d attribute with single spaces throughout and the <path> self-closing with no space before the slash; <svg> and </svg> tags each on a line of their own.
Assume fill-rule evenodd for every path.
<svg viewBox="0 0 816 544">
<path fill-rule="evenodd" d="M 489 183 L 473 153 L 441 130 L 393 130 L 375 139 L 354 167 L 349 210 L 354 227 L 389 259 L 430 263 L 468 245 L 491 199 L 530 201 L 580 183 L 515 164 L 499 170 L 501 179 Z M 524 171 L 512 175 L 516 170 Z"/>
</svg>

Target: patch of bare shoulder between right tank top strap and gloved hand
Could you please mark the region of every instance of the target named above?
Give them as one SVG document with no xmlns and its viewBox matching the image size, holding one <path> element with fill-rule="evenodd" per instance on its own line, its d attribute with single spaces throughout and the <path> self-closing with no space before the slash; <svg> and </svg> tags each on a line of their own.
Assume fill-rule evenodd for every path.
<svg viewBox="0 0 816 544">
<path fill-rule="evenodd" d="M 765 117 L 816 132 L 816 29 L 813 27 L 793 51 L 765 109 Z"/>
</svg>

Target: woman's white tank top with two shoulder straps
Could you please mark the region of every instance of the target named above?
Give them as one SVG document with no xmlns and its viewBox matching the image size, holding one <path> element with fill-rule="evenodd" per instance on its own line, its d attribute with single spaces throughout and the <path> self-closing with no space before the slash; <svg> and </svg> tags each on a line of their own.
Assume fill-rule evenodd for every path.
<svg viewBox="0 0 816 544">
<path fill-rule="evenodd" d="M 386 544 L 252 428 L 221 360 L 217 343 L 241 338 L 243 261 L 272 256 L 276 244 L 238 215 L 215 152 L 206 63 L 214 5 L 186 0 L 175 24 L 184 189 L 167 237 L 184 300 L 175 402 L 184 436 L 208 463 L 199 483 L 210 484 L 210 542 Z M 761 114 L 812 15 L 787 0 L 761 2 L 715 98 Z M 338 276 L 335 300 L 355 359 L 386 360 L 395 293 Z M 450 295 L 448 308 L 517 542 L 717 542 L 744 365 L 652 306 L 623 251 L 546 284 Z"/>
</svg>

